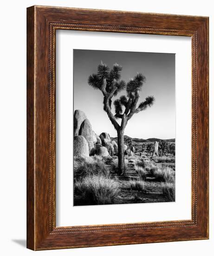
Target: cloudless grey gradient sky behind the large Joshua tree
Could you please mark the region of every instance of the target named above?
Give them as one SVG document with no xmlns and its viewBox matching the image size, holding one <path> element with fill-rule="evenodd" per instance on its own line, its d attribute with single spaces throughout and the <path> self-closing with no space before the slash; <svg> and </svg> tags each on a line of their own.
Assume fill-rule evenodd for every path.
<svg viewBox="0 0 214 256">
<path fill-rule="evenodd" d="M 116 137 L 117 131 L 103 110 L 103 94 L 87 82 L 90 74 L 97 73 L 101 61 L 110 68 L 116 62 L 121 65 L 121 79 L 125 82 L 137 72 L 146 77 L 138 103 L 150 95 L 156 99 L 151 108 L 132 116 L 124 135 L 141 139 L 175 138 L 175 54 L 73 50 L 74 111 L 84 111 L 97 135 L 107 132 Z M 126 92 L 113 97 L 112 101 L 123 94 Z M 113 104 L 112 112 L 115 114 Z M 120 124 L 121 119 L 117 121 Z"/>
</svg>

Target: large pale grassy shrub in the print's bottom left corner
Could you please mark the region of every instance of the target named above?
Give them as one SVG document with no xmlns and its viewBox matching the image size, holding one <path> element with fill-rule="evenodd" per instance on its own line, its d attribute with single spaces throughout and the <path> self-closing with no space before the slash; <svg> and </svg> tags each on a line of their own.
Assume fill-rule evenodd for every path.
<svg viewBox="0 0 214 256">
<path fill-rule="evenodd" d="M 112 204 L 119 191 L 116 181 L 102 175 L 85 176 L 74 189 L 84 205 Z"/>
</svg>

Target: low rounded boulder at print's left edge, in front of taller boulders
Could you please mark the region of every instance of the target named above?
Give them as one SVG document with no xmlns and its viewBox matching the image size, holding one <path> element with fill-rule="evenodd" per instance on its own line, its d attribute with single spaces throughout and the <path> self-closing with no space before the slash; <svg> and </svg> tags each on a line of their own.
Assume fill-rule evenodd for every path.
<svg viewBox="0 0 214 256">
<path fill-rule="evenodd" d="M 74 156 L 89 156 L 89 147 L 88 142 L 84 138 L 84 136 L 75 136 L 73 141 L 73 155 Z"/>
</svg>

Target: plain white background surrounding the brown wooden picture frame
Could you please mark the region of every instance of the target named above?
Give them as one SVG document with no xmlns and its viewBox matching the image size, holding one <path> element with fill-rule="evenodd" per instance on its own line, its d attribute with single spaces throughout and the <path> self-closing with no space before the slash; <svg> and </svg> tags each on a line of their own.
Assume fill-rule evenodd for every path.
<svg viewBox="0 0 214 256">
<path fill-rule="evenodd" d="M 32 5 L 172 13 L 210 17 L 210 131 L 213 130 L 214 7 L 211 0 L 4 0 L 0 5 L 0 254 L 213 255 L 213 135 L 210 133 L 210 239 L 33 252 L 26 249 L 26 7 Z"/>
</svg>

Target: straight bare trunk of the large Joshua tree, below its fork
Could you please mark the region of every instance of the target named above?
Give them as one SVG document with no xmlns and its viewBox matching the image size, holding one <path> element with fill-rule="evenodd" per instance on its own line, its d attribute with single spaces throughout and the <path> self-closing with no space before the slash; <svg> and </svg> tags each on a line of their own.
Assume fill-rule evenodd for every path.
<svg viewBox="0 0 214 256">
<path fill-rule="evenodd" d="M 118 175 L 123 175 L 125 172 L 124 162 L 124 130 L 117 130 L 117 144 L 118 144 Z"/>
</svg>

